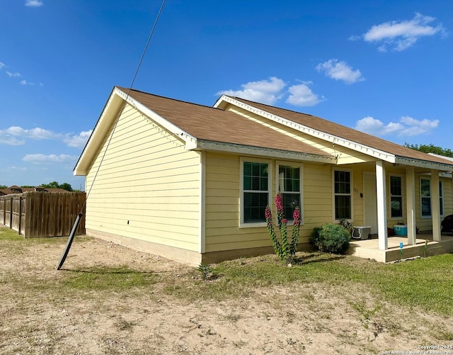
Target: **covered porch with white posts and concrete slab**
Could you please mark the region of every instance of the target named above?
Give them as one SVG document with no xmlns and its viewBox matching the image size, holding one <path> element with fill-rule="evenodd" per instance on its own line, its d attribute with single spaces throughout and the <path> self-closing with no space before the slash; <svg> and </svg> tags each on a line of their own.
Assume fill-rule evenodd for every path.
<svg viewBox="0 0 453 355">
<path fill-rule="evenodd" d="M 363 222 L 362 227 L 369 227 L 374 237 L 352 240 L 349 254 L 396 261 L 401 259 L 401 242 L 403 259 L 453 252 L 453 234 L 441 232 L 441 220 L 453 207 L 452 165 L 404 157 L 389 160 L 368 162 L 374 171 L 369 165 L 363 171 L 362 221 L 361 211 L 355 213 L 357 224 Z M 389 236 L 389 229 L 396 225 L 404 225 L 405 235 Z"/>
</svg>

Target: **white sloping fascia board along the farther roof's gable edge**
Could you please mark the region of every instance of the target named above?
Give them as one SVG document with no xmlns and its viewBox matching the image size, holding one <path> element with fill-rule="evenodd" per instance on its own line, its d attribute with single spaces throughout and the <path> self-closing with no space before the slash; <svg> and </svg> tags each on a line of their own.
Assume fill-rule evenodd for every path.
<svg viewBox="0 0 453 355">
<path fill-rule="evenodd" d="M 376 148 L 372 148 L 367 145 L 362 145 L 357 142 L 352 142 L 352 140 L 346 140 L 345 138 L 338 137 L 337 135 L 331 135 L 329 133 L 322 132 L 321 130 L 315 130 L 314 128 L 310 128 L 306 125 L 301 125 L 300 123 L 296 123 L 292 120 L 288 120 L 287 118 L 283 118 L 283 117 L 274 115 L 273 113 L 269 113 L 268 111 L 263 111 L 263 110 L 260 110 L 259 108 L 255 108 L 255 107 L 250 106 L 241 101 L 237 101 L 234 98 L 231 98 L 226 95 L 220 96 L 220 98 L 214 104 L 214 107 L 219 106 L 220 103 L 222 103 L 222 101 L 231 103 L 234 106 L 239 106 L 240 108 L 243 108 L 244 110 L 246 110 L 248 112 L 256 113 L 257 115 L 260 115 L 262 117 L 273 120 L 274 122 L 280 123 L 289 128 L 299 130 L 299 132 L 305 133 L 307 135 L 311 135 L 312 137 L 316 137 L 321 140 L 326 140 L 327 142 L 331 142 L 332 144 L 340 145 L 341 147 L 346 147 L 350 150 L 355 150 L 356 152 L 361 152 L 363 154 L 367 154 L 371 157 L 375 157 L 377 159 L 384 160 L 385 162 L 389 162 L 389 163 L 395 162 L 394 154 L 384 152 L 383 150 L 377 150 Z"/>
</svg>

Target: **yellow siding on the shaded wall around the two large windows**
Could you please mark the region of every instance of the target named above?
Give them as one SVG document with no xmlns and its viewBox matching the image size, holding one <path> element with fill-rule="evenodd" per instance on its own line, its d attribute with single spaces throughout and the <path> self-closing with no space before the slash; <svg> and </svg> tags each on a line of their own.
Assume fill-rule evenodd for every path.
<svg viewBox="0 0 453 355">
<path fill-rule="evenodd" d="M 206 163 L 206 252 L 271 246 L 266 227 L 239 227 L 240 157 L 207 152 Z M 275 159 L 270 169 L 275 176 Z M 299 242 L 306 243 L 314 227 L 332 221 L 332 179 L 330 165 L 303 163 L 302 171 L 304 224 Z M 275 179 L 270 200 L 275 218 Z M 288 230 L 290 234 L 290 222 Z"/>
</svg>

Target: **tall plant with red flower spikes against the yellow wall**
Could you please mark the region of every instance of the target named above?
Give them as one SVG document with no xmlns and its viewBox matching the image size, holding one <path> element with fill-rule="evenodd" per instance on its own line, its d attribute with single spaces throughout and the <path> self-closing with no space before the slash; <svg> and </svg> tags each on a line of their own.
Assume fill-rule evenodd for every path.
<svg viewBox="0 0 453 355">
<path fill-rule="evenodd" d="M 281 242 L 277 239 L 277 235 L 275 234 L 272 211 L 270 210 L 270 206 L 268 205 L 265 210 L 265 218 L 268 225 L 270 240 L 272 240 L 274 251 L 275 254 L 277 254 L 277 257 L 279 257 L 279 259 L 282 261 L 289 262 L 297 252 L 297 241 L 299 240 L 300 229 L 300 210 L 297 206 L 294 209 L 294 213 L 292 214 L 292 238 L 291 242 L 289 243 L 287 235 L 288 220 L 285 218 L 285 213 L 283 212 L 282 194 L 280 192 L 277 193 L 277 196 L 275 196 L 275 207 L 277 209 L 277 224 L 278 229 L 280 230 Z"/>
</svg>

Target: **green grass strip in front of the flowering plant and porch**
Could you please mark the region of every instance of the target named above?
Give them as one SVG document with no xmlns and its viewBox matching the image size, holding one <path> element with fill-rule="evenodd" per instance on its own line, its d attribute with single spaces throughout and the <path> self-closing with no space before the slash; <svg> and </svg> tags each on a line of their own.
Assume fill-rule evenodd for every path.
<svg viewBox="0 0 453 355">
<path fill-rule="evenodd" d="M 287 267 L 273 255 L 224 261 L 212 266 L 214 281 L 190 281 L 166 287 L 173 295 L 195 300 L 251 296 L 256 288 L 291 283 L 367 285 L 382 300 L 420 307 L 426 312 L 453 315 L 453 254 L 397 264 L 379 264 L 350 256 L 298 253 Z"/>
</svg>

